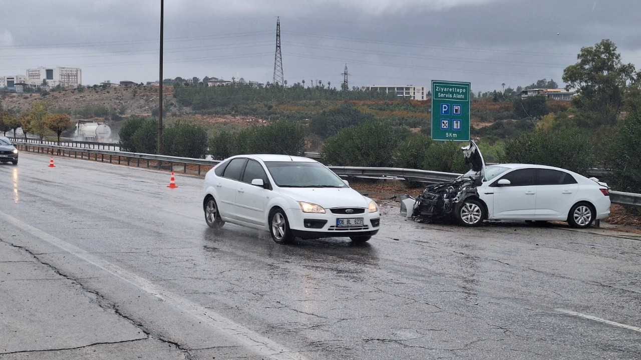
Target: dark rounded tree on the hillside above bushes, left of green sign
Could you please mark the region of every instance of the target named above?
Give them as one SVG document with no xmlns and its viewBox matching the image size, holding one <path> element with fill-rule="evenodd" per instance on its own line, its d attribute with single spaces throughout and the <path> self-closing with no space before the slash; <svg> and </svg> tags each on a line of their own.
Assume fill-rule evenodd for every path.
<svg viewBox="0 0 641 360">
<path fill-rule="evenodd" d="M 374 115 L 363 113 L 356 106 L 344 104 L 320 111 L 310 119 L 310 130 L 321 138 L 329 138 L 346 127 L 374 120 Z"/>
</svg>

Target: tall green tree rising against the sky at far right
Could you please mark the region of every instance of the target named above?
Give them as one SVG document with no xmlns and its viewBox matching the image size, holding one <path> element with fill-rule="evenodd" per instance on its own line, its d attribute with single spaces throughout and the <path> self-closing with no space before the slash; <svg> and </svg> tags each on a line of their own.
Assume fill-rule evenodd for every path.
<svg viewBox="0 0 641 360">
<path fill-rule="evenodd" d="M 621 62 L 617 46 L 610 40 L 581 48 L 578 63 L 563 70 L 566 88 L 577 88 L 572 103 L 591 127 L 617 124 L 624 103 L 624 93 L 633 81 L 635 66 Z"/>
</svg>

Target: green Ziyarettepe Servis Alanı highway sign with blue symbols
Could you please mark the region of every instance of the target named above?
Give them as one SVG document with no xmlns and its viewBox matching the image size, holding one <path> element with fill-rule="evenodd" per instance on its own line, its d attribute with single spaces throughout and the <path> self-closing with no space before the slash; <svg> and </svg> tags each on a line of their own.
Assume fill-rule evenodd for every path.
<svg viewBox="0 0 641 360">
<path fill-rule="evenodd" d="M 470 83 L 432 80 L 432 140 L 470 141 Z"/>
</svg>

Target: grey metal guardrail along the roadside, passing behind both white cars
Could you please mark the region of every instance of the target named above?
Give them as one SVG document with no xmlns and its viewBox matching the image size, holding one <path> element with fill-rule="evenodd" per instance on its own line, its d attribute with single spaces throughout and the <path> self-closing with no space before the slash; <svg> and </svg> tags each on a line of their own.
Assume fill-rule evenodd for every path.
<svg viewBox="0 0 641 360">
<path fill-rule="evenodd" d="M 38 140 L 39 142 L 39 140 Z M 86 158 L 91 159 L 94 155 L 96 161 L 105 161 L 106 156 L 108 156 L 108 161 L 113 163 L 113 158 L 118 164 L 123 162 L 127 165 L 136 165 L 137 167 L 156 167 L 156 168 L 171 168 L 174 170 L 175 164 L 183 165 L 183 172 L 186 174 L 192 172 L 194 174 L 201 175 L 203 173 L 203 166 L 213 167 L 217 163 L 220 163 L 218 160 L 204 160 L 204 159 L 192 159 L 192 158 L 180 158 L 177 156 L 164 156 L 164 155 L 154 155 L 154 154 L 141 154 L 138 152 L 123 152 L 123 151 L 109 151 L 101 149 L 87 149 L 87 148 L 78 148 L 78 147 L 65 147 L 59 145 L 48 145 L 44 143 L 28 143 L 28 142 L 15 142 L 19 148 L 25 151 L 31 149 L 37 149 L 37 152 L 46 152 L 47 154 L 57 153 L 62 154 L 63 156 L 73 156 L 78 158 L 84 158 L 84 154 L 87 154 Z M 98 156 L 101 157 L 98 160 Z M 141 163 L 142 161 L 142 163 Z M 146 166 L 145 166 L 146 165 Z M 188 165 L 193 165 L 196 169 L 188 169 Z M 410 168 L 387 168 L 387 167 L 329 167 L 333 172 L 338 176 L 347 176 L 347 177 L 364 177 L 364 178 L 373 178 L 373 179 L 395 179 L 395 180 L 407 180 L 407 181 L 416 181 L 420 183 L 440 183 L 442 181 L 452 181 L 456 177 L 461 176 L 461 174 L 456 174 L 453 172 L 438 172 L 438 171 L 429 171 L 429 170 L 417 170 Z M 627 205 L 627 206 L 641 206 L 641 194 L 639 193 L 626 193 L 626 192 L 610 192 L 610 201 L 613 204 Z"/>
</svg>

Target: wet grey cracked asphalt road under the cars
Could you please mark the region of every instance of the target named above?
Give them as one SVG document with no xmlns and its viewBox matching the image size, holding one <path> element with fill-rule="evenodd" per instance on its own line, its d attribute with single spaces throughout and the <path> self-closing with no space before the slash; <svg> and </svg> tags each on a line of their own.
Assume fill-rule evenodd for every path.
<svg viewBox="0 0 641 360">
<path fill-rule="evenodd" d="M 201 178 L 55 163 L 0 165 L 0 359 L 641 358 L 638 240 L 389 203 L 369 243 L 278 245 L 209 229 Z"/>
</svg>

